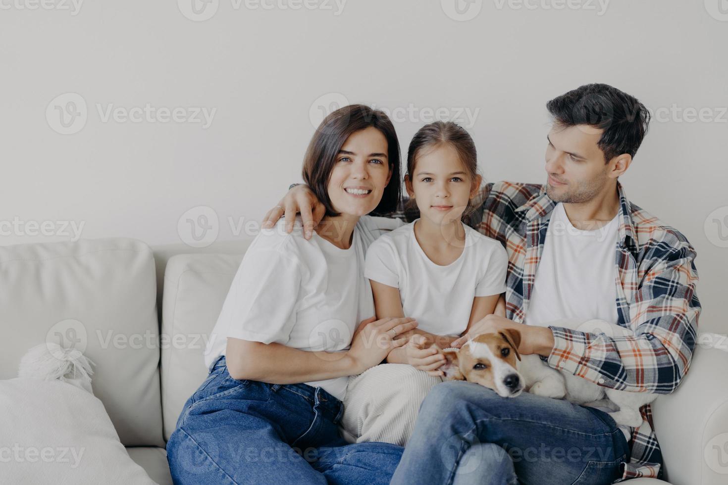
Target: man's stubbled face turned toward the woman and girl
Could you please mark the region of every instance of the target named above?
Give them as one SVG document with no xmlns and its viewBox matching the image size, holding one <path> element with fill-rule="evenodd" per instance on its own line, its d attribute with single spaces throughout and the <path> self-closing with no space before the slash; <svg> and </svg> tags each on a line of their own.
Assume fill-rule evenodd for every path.
<svg viewBox="0 0 728 485">
<path fill-rule="evenodd" d="M 609 182 L 611 164 L 597 143 L 603 130 L 579 124 L 553 127 L 546 147 L 546 193 L 555 202 L 580 204 L 592 200 Z"/>
</svg>

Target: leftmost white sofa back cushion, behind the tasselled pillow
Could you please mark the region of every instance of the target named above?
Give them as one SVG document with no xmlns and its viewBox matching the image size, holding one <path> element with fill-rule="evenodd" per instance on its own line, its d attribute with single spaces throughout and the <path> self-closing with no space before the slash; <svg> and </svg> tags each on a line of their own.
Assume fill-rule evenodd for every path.
<svg viewBox="0 0 728 485">
<path fill-rule="evenodd" d="M 34 345 L 94 363 L 93 392 L 122 444 L 164 446 L 154 259 L 127 238 L 0 246 L 0 379 Z"/>
</svg>

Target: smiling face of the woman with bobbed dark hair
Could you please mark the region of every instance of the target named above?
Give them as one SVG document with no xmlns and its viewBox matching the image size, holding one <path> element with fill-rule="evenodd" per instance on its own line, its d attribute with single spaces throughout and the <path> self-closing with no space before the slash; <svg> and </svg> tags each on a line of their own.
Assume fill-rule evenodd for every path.
<svg viewBox="0 0 728 485">
<path fill-rule="evenodd" d="M 376 209 L 392 177 L 387 147 L 387 138 L 374 127 L 349 135 L 326 188 L 336 212 L 363 216 Z"/>
</svg>

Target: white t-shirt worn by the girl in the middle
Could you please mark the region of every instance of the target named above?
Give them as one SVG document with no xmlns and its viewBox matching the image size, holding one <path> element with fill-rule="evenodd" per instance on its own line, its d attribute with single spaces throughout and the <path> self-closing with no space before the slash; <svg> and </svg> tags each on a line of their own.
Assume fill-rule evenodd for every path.
<svg viewBox="0 0 728 485">
<path fill-rule="evenodd" d="M 459 335 L 467 328 L 473 298 L 505 292 L 505 249 L 495 239 L 467 225 L 463 228 L 463 252 L 446 266 L 424 254 L 414 235 L 414 223 L 369 246 L 365 276 L 399 288 L 405 316 L 416 318 L 417 328 L 425 332 Z"/>
</svg>

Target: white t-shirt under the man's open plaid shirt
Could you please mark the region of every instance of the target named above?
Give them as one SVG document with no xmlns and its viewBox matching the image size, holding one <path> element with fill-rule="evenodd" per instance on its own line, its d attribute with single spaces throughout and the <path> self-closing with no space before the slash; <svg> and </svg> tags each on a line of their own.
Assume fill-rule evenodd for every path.
<svg viewBox="0 0 728 485">
<path fill-rule="evenodd" d="M 593 319 L 617 323 L 618 216 L 594 231 L 582 231 L 571 224 L 563 204 L 554 207 L 524 323 L 549 326 L 560 320 Z M 630 428 L 620 429 L 629 441 Z"/>
</svg>

